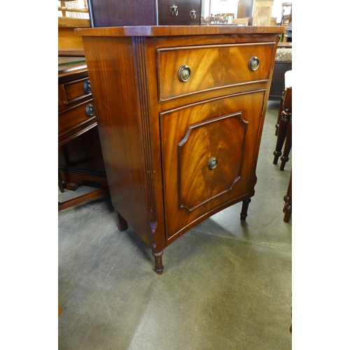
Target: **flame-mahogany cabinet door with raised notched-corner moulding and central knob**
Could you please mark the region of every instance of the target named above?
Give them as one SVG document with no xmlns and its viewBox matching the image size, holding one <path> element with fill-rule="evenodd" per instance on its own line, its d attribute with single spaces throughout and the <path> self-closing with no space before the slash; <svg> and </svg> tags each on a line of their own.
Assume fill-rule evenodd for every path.
<svg viewBox="0 0 350 350">
<path fill-rule="evenodd" d="M 160 114 L 166 237 L 248 195 L 265 90 Z"/>
</svg>

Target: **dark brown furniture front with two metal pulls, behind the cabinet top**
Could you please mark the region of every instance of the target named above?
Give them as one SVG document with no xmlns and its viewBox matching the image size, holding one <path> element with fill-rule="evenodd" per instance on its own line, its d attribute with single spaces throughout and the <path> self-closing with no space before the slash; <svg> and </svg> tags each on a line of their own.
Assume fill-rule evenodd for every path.
<svg viewBox="0 0 350 350">
<path fill-rule="evenodd" d="M 160 1 L 161 25 L 200 25 L 200 14 L 200 0 Z"/>
</svg>

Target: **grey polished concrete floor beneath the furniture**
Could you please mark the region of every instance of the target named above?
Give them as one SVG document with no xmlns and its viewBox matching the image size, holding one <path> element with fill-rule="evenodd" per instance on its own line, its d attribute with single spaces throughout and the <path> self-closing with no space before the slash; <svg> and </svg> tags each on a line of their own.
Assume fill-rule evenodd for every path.
<svg viewBox="0 0 350 350">
<path fill-rule="evenodd" d="M 278 106 L 268 104 L 246 222 L 241 204 L 211 216 L 165 248 L 161 276 L 134 230 L 118 231 L 109 197 L 59 211 L 59 349 L 292 348 L 292 220 L 282 212 L 292 162 L 272 164 Z"/>
</svg>

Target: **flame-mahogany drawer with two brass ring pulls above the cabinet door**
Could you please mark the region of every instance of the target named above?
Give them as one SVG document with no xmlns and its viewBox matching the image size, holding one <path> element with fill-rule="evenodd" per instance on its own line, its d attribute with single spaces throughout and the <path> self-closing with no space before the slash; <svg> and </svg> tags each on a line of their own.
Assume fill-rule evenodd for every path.
<svg viewBox="0 0 350 350">
<path fill-rule="evenodd" d="M 267 82 L 273 50 L 274 43 L 159 48 L 160 102 L 220 87 Z"/>
</svg>

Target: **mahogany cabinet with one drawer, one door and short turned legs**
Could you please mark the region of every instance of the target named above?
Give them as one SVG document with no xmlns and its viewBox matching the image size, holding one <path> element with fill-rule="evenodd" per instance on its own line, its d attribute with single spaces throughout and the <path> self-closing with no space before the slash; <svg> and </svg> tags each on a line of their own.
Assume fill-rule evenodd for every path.
<svg viewBox="0 0 350 350">
<path fill-rule="evenodd" d="M 119 230 L 130 225 L 162 274 L 166 246 L 254 195 L 283 27 L 76 29 L 83 37 Z"/>
</svg>

